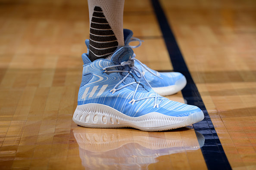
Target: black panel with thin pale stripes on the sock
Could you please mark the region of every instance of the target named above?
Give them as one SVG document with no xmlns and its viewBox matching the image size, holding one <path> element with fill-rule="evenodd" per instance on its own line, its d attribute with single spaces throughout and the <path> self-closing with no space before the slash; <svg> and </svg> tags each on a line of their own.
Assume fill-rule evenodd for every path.
<svg viewBox="0 0 256 170">
<path fill-rule="evenodd" d="M 107 22 L 102 9 L 94 7 L 90 25 L 89 58 L 106 59 L 112 55 L 118 46 L 117 38 Z"/>
</svg>

